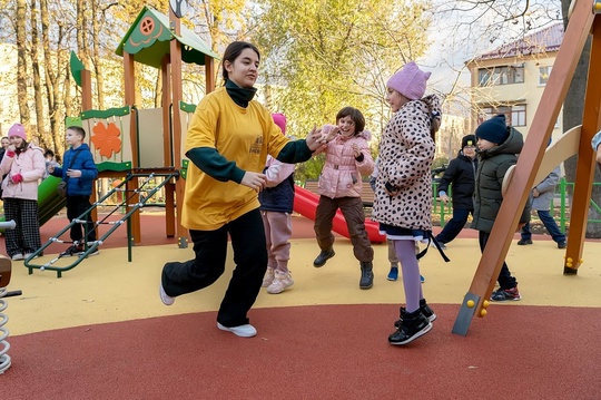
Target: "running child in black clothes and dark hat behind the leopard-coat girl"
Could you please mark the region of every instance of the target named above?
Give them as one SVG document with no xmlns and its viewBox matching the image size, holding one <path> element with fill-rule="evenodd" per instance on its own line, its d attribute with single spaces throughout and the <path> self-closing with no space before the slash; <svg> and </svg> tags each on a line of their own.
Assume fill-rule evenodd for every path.
<svg viewBox="0 0 601 400">
<path fill-rule="evenodd" d="M 474 194 L 474 175 L 477 168 L 475 143 L 474 135 L 466 135 L 462 138 L 457 157 L 449 163 L 439 184 L 439 197 L 444 204 L 449 203 L 446 193 L 449 185 L 453 184 L 453 217 L 436 235 L 436 241 L 443 248 L 446 248 L 446 243 L 457 237 L 467 222 L 467 216 L 474 214 L 472 196 Z"/>
</svg>

